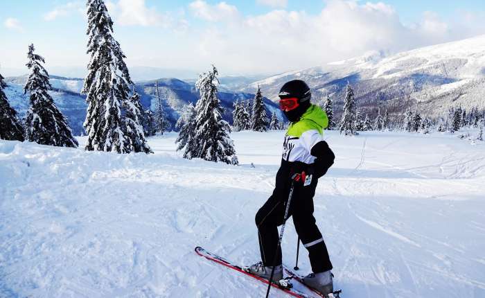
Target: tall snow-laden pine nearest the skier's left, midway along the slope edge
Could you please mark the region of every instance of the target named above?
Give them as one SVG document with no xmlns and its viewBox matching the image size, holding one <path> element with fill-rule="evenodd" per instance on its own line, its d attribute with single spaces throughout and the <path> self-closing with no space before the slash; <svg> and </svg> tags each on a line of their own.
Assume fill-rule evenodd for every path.
<svg viewBox="0 0 485 298">
<path fill-rule="evenodd" d="M 195 105 L 194 145 L 197 154 L 192 157 L 231 164 L 236 150 L 229 137 L 229 123 L 222 120 L 223 109 L 218 98 L 217 76 L 218 70 L 213 66 L 212 71 L 202 73 L 195 84 L 200 92 L 200 99 Z"/>
</svg>

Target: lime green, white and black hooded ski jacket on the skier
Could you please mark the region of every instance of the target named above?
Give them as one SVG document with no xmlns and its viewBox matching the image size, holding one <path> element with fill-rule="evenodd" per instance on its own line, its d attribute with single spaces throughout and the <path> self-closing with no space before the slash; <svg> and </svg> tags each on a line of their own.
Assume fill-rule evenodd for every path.
<svg viewBox="0 0 485 298">
<path fill-rule="evenodd" d="M 313 175 L 315 183 L 325 175 L 335 159 L 324 141 L 327 127 L 328 117 L 317 105 L 310 105 L 299 121 L 290 124 L 283 142 L 281 166 L 276 174 L 276 189 L 289 189 L 291 174 L 301 170 Z"/>
</svg>

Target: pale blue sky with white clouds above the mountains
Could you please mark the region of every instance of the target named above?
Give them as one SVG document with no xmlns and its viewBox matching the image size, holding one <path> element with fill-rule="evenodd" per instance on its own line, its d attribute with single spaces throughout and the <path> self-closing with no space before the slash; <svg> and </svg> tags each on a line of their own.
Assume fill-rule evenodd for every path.
<svg viewBox="0 0 485 298">
<path fill-rule="evenodd" d="M 106 0 L 130 66 L 271 74 L 369 51 L 395 53 L 485 34 L 485 1 Z M 33 42 L 47 67 L 84 67 L 85 1 L 6 0 L 0 65 L 24 69 Z"/>
</svg>

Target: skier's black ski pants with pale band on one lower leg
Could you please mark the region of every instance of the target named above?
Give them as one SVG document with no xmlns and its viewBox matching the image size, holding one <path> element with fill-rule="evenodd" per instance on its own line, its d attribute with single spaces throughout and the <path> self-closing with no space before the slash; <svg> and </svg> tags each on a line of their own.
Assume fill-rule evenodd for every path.
<svg viewBox="0 0 485 298">
<path fill-rule="evenodd" d="M 296 184 L 288 210 L 288 217 L 293 217 L 294 227 L 301 239 L 301 243 L 308 249 L 308 256 L 314 273 L 331 270 L 332 263 L 324 242 L 324 238 L 315 223 L 313 216 L 313 196 L 317 187 L 317 177 L 308 186 Z M 286 202 L 290 188 L 281 191 L 274 189 L 273 194 L 256 213 L 258 227 L 259 248 L 261 259 L 265 266 L 281 265 L 281 247 L 278 247 L 278 227 L 283 225 Z M 275 258 L 276 254 L 276 258 Z"/>
</svg>

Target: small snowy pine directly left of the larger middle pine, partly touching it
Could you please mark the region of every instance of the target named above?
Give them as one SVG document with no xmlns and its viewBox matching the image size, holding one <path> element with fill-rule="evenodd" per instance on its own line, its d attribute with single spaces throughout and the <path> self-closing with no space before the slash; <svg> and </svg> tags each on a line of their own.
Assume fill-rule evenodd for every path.
<svg viewBox="0 0 485 298">
<path fill-rule="evenodd" d="M 179 135 L 175 140 L 177 151 L 184 150 L 184 158 L 192 159 L 197 157 L 198 148 L 195 140 L 195 107 L 189 103 L 184 107 L 184 112 L 180 116 L 175 127 L 179 129 Z"/>
</svg>

